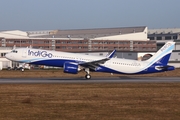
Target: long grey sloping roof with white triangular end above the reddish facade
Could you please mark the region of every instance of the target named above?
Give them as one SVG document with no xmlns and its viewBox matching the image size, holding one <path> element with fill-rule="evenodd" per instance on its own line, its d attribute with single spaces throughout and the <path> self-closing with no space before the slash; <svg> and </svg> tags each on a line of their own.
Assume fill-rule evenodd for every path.
<svg viewBox="0 0 180 120">
<path fill-rule="evenodd" d="M 40 38 L 77 38 L 91 40 L 148 40 L 147 27 L 120 27 L 120 28 L 97 28 L 76 30 L 52 30 L 40 34 L 38 31 L 28 32 L 30 37 Z M 36 35 L 37 34 L 37 35 Z"/>
</svg>

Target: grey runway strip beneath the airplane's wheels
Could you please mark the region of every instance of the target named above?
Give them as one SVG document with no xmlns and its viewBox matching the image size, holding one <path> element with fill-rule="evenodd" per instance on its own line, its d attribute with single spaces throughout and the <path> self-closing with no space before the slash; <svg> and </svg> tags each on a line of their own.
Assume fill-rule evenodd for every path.
<svg viewBox="0 0 180 120">
<path fill-rule="evenodd" d="M 84 78 L 1 78 L 0 84 L 36 84 L 36 83 L 168 83 L 180 82 L 179 77 L 108 77 L 108 78 L 92 78 L 86 80 Z"/>
</svg>

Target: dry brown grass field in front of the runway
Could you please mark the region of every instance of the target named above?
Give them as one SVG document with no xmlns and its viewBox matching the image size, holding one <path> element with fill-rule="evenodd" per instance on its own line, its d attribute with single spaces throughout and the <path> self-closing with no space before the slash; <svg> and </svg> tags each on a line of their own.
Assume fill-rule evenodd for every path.
<svg viewBox="0 0 180 120">
<path fill-rule="evenodd" d="M 180 83 L 0 85 L 0 120 L 178 120 L 179 103 Z"/>
</svg>

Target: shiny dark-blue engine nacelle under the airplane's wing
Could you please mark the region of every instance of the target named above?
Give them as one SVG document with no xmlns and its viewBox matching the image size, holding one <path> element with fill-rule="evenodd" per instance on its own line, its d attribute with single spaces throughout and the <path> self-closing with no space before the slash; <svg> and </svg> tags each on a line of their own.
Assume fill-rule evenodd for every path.
<svg viewBox="0 0 180 120">
<path fill-rule="evenodd" d="M 78 64 L 73 62 L 66 62 L 64 63 L 64 72 L 77 74 L 78 73 Z"/>
</svg>

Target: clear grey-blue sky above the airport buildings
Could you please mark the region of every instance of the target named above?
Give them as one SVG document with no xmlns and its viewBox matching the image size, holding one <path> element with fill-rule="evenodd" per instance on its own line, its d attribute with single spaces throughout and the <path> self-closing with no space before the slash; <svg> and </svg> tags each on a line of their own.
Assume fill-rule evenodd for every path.
<svg viewBox="0 0 180 120">
<path fill-rule="evenodd" d="M 0 0 L 2 30 L 180 28 L 180 0 Z"/>
</svg>

